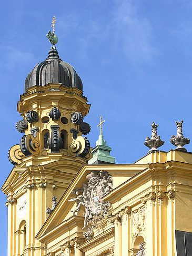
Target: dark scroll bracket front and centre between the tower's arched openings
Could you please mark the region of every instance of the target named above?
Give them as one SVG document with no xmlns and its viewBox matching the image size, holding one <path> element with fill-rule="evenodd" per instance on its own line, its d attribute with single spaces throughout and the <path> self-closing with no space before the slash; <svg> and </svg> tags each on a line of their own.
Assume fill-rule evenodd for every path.
<svg viewBox="0 0 192 256">
<path fill-rule="evenodd" d="M 63 148 L 63 140 L 59 137 L 59 125 L 51 125 L 52 129 L 51 137 L 48 138 L 48 148 L 51 149 L 52 153 L 59 152 L 59 149 Z"/>
</svg>

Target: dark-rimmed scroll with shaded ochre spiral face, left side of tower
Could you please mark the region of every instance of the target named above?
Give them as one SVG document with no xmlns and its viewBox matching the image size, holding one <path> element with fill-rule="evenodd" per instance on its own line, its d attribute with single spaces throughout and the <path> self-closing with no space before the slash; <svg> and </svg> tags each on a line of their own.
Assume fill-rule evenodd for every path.
<svg viewBox="0 0 192 256">
<path fill-rule="evenodd" d="M 26 155 L 37 155 L 40 151 L 40 144 L 32 134 L 24 135 L 20 141 L 21 151 Z"/>
</svg>

